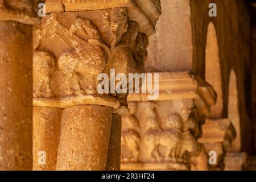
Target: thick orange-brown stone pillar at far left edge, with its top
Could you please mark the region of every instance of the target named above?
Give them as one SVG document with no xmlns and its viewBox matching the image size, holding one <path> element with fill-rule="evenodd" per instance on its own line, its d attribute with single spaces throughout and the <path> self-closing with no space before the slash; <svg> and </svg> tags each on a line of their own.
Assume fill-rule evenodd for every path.
<svg viewBox="0 0 256 182">
<path fill-rule="evenodd" d="M 32 1 L 0 1 L 0 170 L 32 169 Z"/>
</svg>

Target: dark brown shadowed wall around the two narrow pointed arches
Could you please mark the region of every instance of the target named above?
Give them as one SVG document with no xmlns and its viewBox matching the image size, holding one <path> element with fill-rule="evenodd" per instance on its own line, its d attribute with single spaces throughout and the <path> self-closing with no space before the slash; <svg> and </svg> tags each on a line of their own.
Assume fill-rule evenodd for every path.
<svg viewBox="0 0 256 182">
<path fill-rule="evenodd" d="M 205 73 L 205 48 L 207 46 L 208 24 L 214 24 L 218 42 L 218 57 L 221 69 L 221 87 L 222 87 L 222 118 L 228 117 L 228 96 L 229 96 L 229 77 L 232 68 L 237 77 L 237 100 L 238 112 L 240 117 L 241 130 L 241 149 L 242 151 L 251 151 L 250 138 L 252 135 L 252 123 L 248 118 L 247 101 L 250 98 L 246 93 L 247 68 L 245 65 L 250 60 L 250 17 L 245 5 L 245 1 L 215 1 L 217 5 L 217 17 L 205 16 L 209 11 L 209 3 L 206 0 L 198 2 L 190 1 L 191 6 L 191 23 L 193 37 L 193 72 L 197 75 L 204 76 Z M 243 28 L 241 28 L 243 27 Z M 214 57 L 215 51 L 212 49 Z M 242 61 L 241 61 L 242 60 Z M 212 68 L 212 72 L 216 69 Z M 207 80 L 208 81 L 208 80 Z M 212 82 L 209 82 L 212 84 Z M 216 88 L 218 90 L 218 88 Z M 218 93 L 220 95 L 220 92 Z M 230 118 L 231 119 L 231 118 Z"/>
</svg>

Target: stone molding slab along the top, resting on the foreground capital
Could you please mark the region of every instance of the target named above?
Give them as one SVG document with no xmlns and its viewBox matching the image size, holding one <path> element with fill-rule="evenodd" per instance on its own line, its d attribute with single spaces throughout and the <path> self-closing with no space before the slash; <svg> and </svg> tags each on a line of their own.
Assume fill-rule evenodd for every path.
<svg viewBox="0 0 256 182">
<path fill-rule="evenodd" d="M 130 20 L 137 22 L 139 31 L 147 36 L 155 33 L 155 25 L 162 13 L 160 0 L 46 0 L 46 11 L 90 11 L 126 7 Z"/>
</svg>

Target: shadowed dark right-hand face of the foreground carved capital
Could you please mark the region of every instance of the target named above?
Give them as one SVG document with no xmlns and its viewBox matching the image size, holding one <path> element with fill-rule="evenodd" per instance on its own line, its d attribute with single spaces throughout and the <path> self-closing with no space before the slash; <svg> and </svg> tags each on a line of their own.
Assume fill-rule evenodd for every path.
<svg viewBox="0 0 256 182">
<path fill-rule="evenodd" d="M 124 73 L 127 77 L 129 73 L 143 73 L 144 61 L 147 58 L 147 46 L 147 36 L 139 32 L 137 23 L 129 22 L 122 39 L 111 49 L 109 64 L 106 68 L 109 76 L 110 68 L 115 69 L 115 74 Z M 118 97 L 122 105 L 127 106 L 127 94 L 113 95 Z"/>
</svg>

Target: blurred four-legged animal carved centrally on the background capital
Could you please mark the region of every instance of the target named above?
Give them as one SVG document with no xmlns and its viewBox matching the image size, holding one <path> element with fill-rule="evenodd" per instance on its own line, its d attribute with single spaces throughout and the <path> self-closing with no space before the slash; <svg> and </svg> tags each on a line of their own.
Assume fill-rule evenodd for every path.
<svg viewBox="0 0 256 182">
<path fill-rule="evenodd" d="M 163 122 L 165 126 L 164 130 L 151 130 L 145 137 L 148 152 L 150 152 L 152 156 L 152 162 L 170 160 L 171 151 L 179 144 L 181 139 L 181 118 L 179 114 L 171 114 L 170 117 Z M 159 155 L 160 146 L 166 148 L 164 156 Z"/>
</svg>

